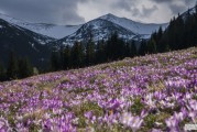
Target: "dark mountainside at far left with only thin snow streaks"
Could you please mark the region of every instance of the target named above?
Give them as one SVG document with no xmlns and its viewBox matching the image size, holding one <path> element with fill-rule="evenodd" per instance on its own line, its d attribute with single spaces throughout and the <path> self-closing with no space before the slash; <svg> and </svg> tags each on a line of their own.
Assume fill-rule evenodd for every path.
<svg viewBox="0 0 197 132">
<path fill-rule="evenodd" d="M 13 51 L 19 57 L 26 56 L 34 65 L 41 66 L 50 56 L 45 43 L 51 41 L 54 38 L 0 19 L 0 61 L 4 63 L 8 63 L 9 53 Z"/>
</svg>

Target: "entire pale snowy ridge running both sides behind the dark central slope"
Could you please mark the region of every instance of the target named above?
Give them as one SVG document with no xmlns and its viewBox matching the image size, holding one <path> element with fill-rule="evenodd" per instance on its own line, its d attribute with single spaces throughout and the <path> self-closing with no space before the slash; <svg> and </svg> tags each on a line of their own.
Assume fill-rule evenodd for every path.
<svg viewBox="0 0 197 132">
<path fill-rule="evenodd" d="M 0 13 L 0 18 L 12 23 L 12 24 L 19 25 L 21 28 L 31 30 L 35 33 L 47 35 L 47 36 L 51 36 L 51 37 L 54 37 L 57 40 L 64 38 L 66 36 L 74 34 L 84 24 L 90 22 L 90 21 L 88 21 L 88 22 L 86 22 L 84 24 L 79 24 L 79 25 L 56 25 L 56 24 L 51 24 L 51 23 L 31 23 L 31 22 L 26 22 L 26 21 L 23 21 L 20 19 L 11 18 L 7 14 L 1 14 L 1 13 Z M 110 22 L 113 22 L 114 24 L 119 24 L 120 26 L 122 26 L 124 29 L 131 30 L 135 34 L 149 35 L 149 36 L 153 31 L 157 30 L 160 25 L 162 25 L 162 26 L 167 25 L 166 23 L 165 24 L 154 24 L 154 23 L 147 24 L 147 23 L 142 23 L 142 22 L 135 22 L 135 21 L 127 19 L 127 18 L 116 16 L 114 14 L 111 14 L 111 13 L 101 15 L 97 19 L 108 20 Z M 94 19 L 94 20 L 97 20 L 97 19 Z M 112 19 L 116 19 L 119 22 L 112 21 Z M 120 22 L 120 21 L 124 21 L 124 22 Z M 125 25 L 125 23 L 127 23 L 127 25 Z M 142 25 L 144 25 L 144 26 L 142 26 Z M 142 29 L 139 29 L 140 26 L 142 26 L 142 29 L 145 29 L 145 28 L 149 28 L 149 29 L 146 30 L 146 32 L 142 32 Z M 153 26 L 153 28 L 151 28 L 151 26 Z"/>
</svg>

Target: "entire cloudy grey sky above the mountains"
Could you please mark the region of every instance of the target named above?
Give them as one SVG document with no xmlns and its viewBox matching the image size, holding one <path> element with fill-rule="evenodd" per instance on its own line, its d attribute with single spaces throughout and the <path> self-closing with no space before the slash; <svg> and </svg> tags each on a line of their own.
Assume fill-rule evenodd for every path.
<svg viewBox="0 0 197 132">
<path fill-rule="evenodd" d="M 0 13 L 35 23 L 75 25 L 112 13 L 144 23 L 166 23 L 196 0 L 0 0 Z"/>
</svg>

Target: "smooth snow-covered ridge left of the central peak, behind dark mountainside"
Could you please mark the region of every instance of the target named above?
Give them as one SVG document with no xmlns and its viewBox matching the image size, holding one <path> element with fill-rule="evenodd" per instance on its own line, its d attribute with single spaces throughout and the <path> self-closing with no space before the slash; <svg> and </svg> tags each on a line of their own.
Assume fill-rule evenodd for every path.
<svg viewBox="0 0 197 132">
<path fill-rule="evenodd" d="M 55 25 L 47 23 L 31 23 L 20 19 L 9 16 L 0 13 L 0 19 L 6 20 L 9 23 L 19 25 L 39 34 L 47 35 L 54 38 L 62 38 L 70 35 L 77 31 L 81 25 Z"/>
</svg>

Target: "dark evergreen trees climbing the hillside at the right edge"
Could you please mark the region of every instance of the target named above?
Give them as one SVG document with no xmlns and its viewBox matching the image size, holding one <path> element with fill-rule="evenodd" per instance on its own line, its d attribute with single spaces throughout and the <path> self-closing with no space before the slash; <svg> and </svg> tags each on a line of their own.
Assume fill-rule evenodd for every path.
<svg viewBox="0 0 197 132">
<path fill-rule="evenodd" d="M 197 46 L 197 6 L 184 15 L 173 18 L 168 28 L 154 32 L 143 44 L 144 53 L 164 53 Z"/>
</svg>

